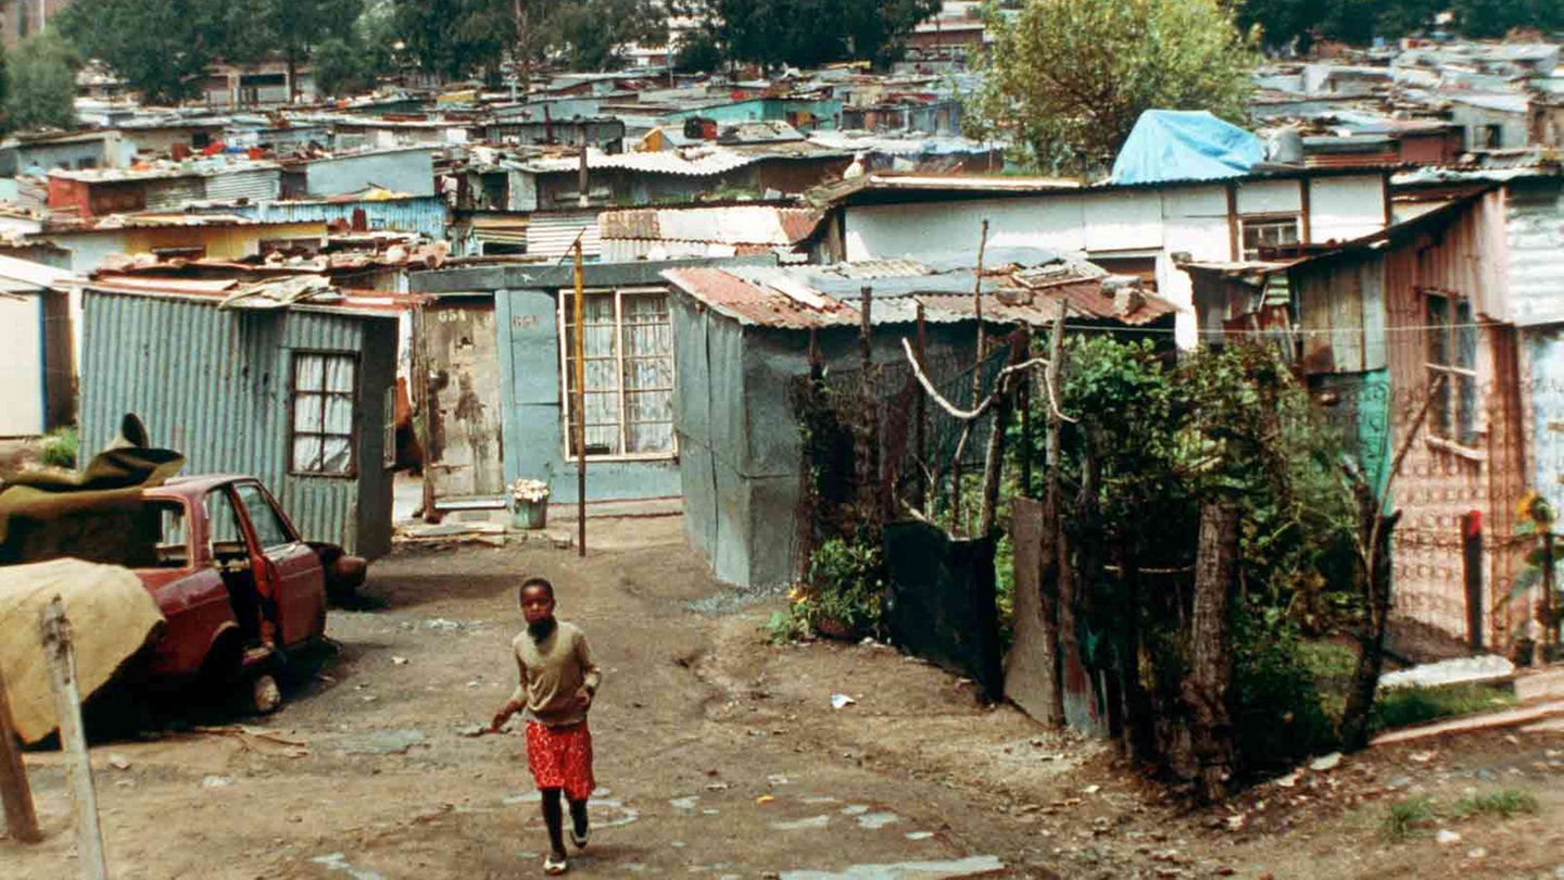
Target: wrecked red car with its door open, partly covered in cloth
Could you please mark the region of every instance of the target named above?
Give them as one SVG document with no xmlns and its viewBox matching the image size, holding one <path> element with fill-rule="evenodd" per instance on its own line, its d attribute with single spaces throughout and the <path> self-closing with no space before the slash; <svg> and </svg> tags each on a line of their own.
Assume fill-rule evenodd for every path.
<svg viewBox="0 0 1564 880">
<path fill-rule="evenodd" d="M 127 684 L 200 684 L 210 695 L 238 687 L 256 711 L 277 708 L 269 673 L 321 639 L 328 595 L 350 593 L 368 567 L 336 545 L 305 542 L 252 476 L 67 490 L 23 498 L 6 512 L 0 562 L 75 556 L 124 565 L 145 584 L 164 622 L 122 670 Z"/>
</svg>

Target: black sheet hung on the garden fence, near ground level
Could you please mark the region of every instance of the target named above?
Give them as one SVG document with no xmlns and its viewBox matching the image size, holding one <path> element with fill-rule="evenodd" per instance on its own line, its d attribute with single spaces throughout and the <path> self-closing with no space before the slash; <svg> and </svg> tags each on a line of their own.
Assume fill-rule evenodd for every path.
<svg viewBox="0 0 1564 880">
<path fill-rule="evenodd" d="M 887 623 L 901 650 L 1004 695 L 990 539 L 952 540 L 927 523 L 885 526 Z"/>
</svg>

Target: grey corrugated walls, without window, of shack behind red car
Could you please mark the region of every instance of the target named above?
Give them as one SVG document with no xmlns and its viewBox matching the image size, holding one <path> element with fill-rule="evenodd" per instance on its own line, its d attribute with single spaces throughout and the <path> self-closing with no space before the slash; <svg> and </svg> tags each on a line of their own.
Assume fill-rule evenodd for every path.
<svg viewBox="0 0 1564 880">
<path fill-rule="evenodd" d="M 369 340 L 374 346 L 366 349 Z M 258 476 L 307 539 L 368 556 L 385 553 L 391 474 L 382 467 L 380 420 L 385 390 L 396 380 L 394 340 L 394 319 L 219 312 L 206 302 L 88 291 L 81 448 L 102 449 L 119 431 L 120 417 L 135 412 L 155 445 L 185 453 L 185 473 Z M 294 351 L 361 355 L 357 481 L 289 473 Z M 383 540 L 374 539 L 380 532 Z"/>
</svg>

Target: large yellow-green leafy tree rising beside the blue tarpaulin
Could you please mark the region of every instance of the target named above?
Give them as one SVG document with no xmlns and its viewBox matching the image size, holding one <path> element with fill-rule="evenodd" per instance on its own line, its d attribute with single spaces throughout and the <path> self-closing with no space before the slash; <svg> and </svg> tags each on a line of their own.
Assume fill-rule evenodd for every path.
<svg viewBox="0 0 1564 880">
<path fill-rule="evenodd" d="M 1254 36 L 1215 0 L 1031 0 L 988 28 L 976 128 L 1034 168 L 1106 168 L 1153 108 L 1245 117 Z"/>
</svg>

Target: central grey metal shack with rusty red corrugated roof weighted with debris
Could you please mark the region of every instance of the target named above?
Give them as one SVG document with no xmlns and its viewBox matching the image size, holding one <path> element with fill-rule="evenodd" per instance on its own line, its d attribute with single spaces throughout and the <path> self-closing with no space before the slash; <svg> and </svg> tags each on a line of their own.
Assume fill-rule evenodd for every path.
<svg viewBox="0 0 1564 880">
<path fill-rule="evenodd" d="M 679 363 L 676 432 L 685 534 L 718 578 L 769 587 L 798 578 L 796 514 L 802 445 L 793 385 L 813 346 L 827 374 L 860 365 L 860 290 L 873 290 L 874 363 L 904 360 L 923 305 L 924 355 L 971 365 L 976 355 L 973 255 L 799 268 L 679 268 L 663 272 Z M 1046 326 L 1068 302 L 1073 323 L 1156 326 L 1171 340 L 1176 307 L 1153 293 L 1115 296 L 1101 277 L 1029 290 L 1026 268 L 1057 263 L 1037 251 L 990 251 L 984 316 L 998 326 Z M 937 379 L 938 380 L 938 379 Z M 973 443 L 981 448 L 981 442 Z"/>
</svg>

